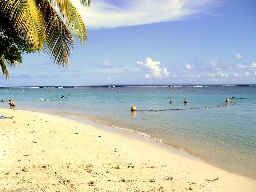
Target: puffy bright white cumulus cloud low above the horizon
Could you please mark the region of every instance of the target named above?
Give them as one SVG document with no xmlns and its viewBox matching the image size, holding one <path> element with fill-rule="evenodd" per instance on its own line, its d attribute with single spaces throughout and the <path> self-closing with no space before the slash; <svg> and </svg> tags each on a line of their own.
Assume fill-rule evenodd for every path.
<svg viewBox="0 0 256 192">
<path fill-rule="evenodd" d="M 137 61 L 137 64 L 140 65 L 141 69 L 148 68 L 150 70 L 150 72 L 152 73 L 152 76 L 155 78 L 164 78 L 164 77 L 168 77 L 170 75 L 170 72 L 167 71 L 166 68 L 159 67 L 160 66 L 159 61 L 152 61 L 152 59 L 149 57 L 146 59 L 146 63 L 143 63 L 142 61 Z M 149 75 L 148 75 L 148 77 L 149 77 Z"/>
</svg>

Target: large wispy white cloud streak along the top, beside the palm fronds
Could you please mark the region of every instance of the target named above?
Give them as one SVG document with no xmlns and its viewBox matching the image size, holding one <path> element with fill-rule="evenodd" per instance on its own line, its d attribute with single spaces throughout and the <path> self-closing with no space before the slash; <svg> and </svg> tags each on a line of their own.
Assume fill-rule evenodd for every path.
<svg viewBox="0 0 256 192">
<path fill-rule="evenodd" d="M 178 21 L 191 19 L 191 16 L 200 14 L 216 16 L 217 14 L 212 14 L 210 10 L 221 3 L 220 0 L 161 0 L 161 3 L 158 0 L 93 0 L 91 7 L 85 10 L 80 5 L 80 0 L 70 1 L 76 7 L 87 29 Z"/>
</svg>

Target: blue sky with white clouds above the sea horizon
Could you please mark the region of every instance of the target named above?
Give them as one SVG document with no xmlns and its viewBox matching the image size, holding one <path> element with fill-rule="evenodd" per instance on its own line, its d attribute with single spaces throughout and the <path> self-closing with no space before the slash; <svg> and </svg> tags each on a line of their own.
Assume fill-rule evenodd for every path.
<svg viewBox="0 0 256 192">
<path fill-rule="evenodd" d="M 256 84 L 256 1 L 70 0 L 87 28 L 70 68 L 24 54 L 0 86 Z"/>
</svg>

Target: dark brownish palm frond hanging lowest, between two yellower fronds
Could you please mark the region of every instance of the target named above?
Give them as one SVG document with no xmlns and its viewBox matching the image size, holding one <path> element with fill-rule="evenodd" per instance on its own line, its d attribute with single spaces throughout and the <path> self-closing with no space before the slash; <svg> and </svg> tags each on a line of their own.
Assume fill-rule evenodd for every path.
<svg viewBox="0 0 256 192">
<path fill-rule="evenodd" d="M 41 2 L 40 9 L 46 21 L 44 49 L 57 66 L 69 67 L 68 58 L 74 50 L 72 34 L 48 0 Z"/>
</svg>

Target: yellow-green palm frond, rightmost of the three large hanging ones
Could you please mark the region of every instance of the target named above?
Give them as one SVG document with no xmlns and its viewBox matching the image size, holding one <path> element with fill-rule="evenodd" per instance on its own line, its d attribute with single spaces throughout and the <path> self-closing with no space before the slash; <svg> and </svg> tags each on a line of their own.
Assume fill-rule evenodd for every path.
<svg viewBox="0 0 256 192">
<path fill-rule="evenodd" d="M 87 41 L 86 29 L 84 22 L 78 14 L 76 8 L 69 0 L 51 0 L 54 1 L 52 5 L 57 12 L 60 12 L 66 20 L 66 25 L 74 37 L 84 46 Z M 81 0 L 86 6 L 91 4 L 91 0 Z"/>
</svg>

